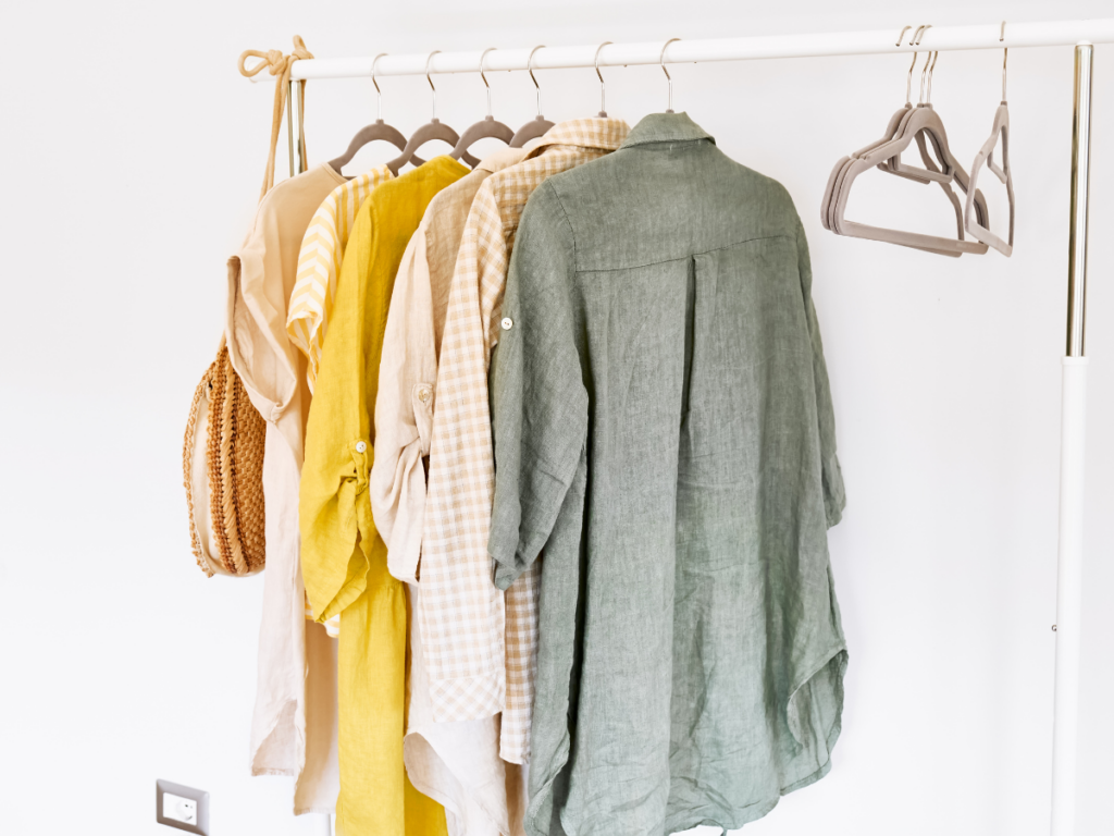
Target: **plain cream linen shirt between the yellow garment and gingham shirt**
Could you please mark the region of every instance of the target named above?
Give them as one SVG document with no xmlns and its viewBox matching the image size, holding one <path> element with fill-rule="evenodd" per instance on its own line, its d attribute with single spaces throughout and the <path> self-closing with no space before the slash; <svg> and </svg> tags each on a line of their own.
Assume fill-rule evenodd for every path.
<svg viewBox="0 0 1114 836">
<path fill-rule="evenodd" d="M 483 181 L 525 155 L 520 148 L 500 150 L 438 193 L 407 245 L 391 292 L 369 489 L 375 527 L 388 546 L 388 568 L 409 582 L 412 612 L 421 607 L 416 584 L 426 506 L 423 457 L 429 456 L 433 430 L 437 356 L 460 236 Z M 414 787 L 444 805 L 450 834 L 520 833 L 525 781 L 519 766 L 499 757 L 499 718 L 434 722 L 417 622 L 410 629 L 407 775 Z"/>
</svg>

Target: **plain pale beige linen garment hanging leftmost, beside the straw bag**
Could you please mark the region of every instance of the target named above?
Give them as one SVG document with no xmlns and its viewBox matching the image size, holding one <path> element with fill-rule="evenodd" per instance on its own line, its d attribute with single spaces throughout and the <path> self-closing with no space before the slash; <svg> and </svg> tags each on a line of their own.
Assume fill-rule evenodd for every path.
<svg viewBox="0 0 1114 836">
<path fill-rule="evenodd" d="M 266 420 L 266 571 L 252 718 L 253 775 L 294 776 L 294 813 L 331 813 L 340 789 L 336 642 L 306 622 L 297 528 L 310 393 L 305 359 L 286 336 L 302 235 L 344 179 L 317 166 L 267 192 L 228 260 L 226 339 L 236 373 Z"/>
</svg>

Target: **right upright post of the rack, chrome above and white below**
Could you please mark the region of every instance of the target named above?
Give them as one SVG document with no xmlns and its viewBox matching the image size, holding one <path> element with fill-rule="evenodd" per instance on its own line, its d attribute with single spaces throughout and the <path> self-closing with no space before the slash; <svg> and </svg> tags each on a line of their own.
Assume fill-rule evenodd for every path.
<svg viewBox="0 0 1114 836">
<path fill-rule="evenodd" d="M 1079 616 L 1083 489 L 1086 454 L 1087 200 L 1091 184 L 1091 80 L 1094 47 L 1075 47 L 1072 118 L 1072 204 L 1067 260 L 1067 356 L 1059 463 L 1059 563 L 1056 583 L 1056 703 L 1053 726 L 1052 836 L 1075 836 L 1079 731 Z"/>
</svg>

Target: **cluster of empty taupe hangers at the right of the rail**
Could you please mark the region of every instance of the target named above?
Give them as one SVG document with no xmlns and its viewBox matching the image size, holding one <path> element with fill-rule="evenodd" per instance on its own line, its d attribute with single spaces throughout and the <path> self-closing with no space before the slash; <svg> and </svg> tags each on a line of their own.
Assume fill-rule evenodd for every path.
<svg viewBox="0 0 1114 836">
<path fill-rule="evenodd" d="M 912 27 L 905 27 L 898 36 L 897 46 L 901 46 L 905 33 Z M 920 46 L 925 32 L 931 25 L 918 27 L 909 45 Z M 999 40 L 1005 40 L 1006 25 L 1001 25 Z M 1005 52 L 1008 56 L 1008 50 Z M 838 235 L 885 241 L 917 250 L 958 257 L 964 253 L 984 254 L 993 246 L 1004 255 L 1010 255 L 1014 246 L 1014 184 L 1009 168 L 1009 109 L 1006 105 L 1006 58 L 1001 64 L 1001 104 L 995 113 L 994 127 L 989 138 L 984 143 L 971 172 L 967 172 L 956 159 L 948 145 L 948 135 L 939 114 L 932 108 L 932 72 L 939 58 L 938 51 L 929 51 L 920 76 L 920 98 L 916 107 L 912 105 L 912 71 L 917 66 L 919 52 L 913 52 L 912 64 L 906 79 L 906 103 L 890 117 L 886 133 L 880 139 L 860 148 L 850 156 L 840 159 L 828 178 L 824 197 L 821 203 L 821 222 L 825 230 Z M 927 84 L 926 84 L 927 82 Z M 994 148 L 1001 140 L 1001 167 L 994 162 Z M 911 143 L 917 143 L 924 168 L 912 166 L 901 161 L 901 153 Z M 935 152 L 935 159 L 929 153 L 929 144 Z M 937 164 L 937 161 L 939 164 Z M 990 217 L 986 198 L 977 187 L 978 174 L 986 165 L 1005 184 L 1009 198 L 1009 239 L 1004 241 L 989 230 Z M 939 184 L 947 195 L 956 213 L 956 237 L 926 235 L 916 232 L 905 232 L 882 226 L 848 221 L 844 217 L 847 201 L 856 178 L 870 168 L 878 168 L 887 174 L 910 179 L 927 185 Z M 957 185 L 964 193 L 965 202 L 952 189 Z M 973 241 L 965 236 L 969 235 Z"/>
</svg>

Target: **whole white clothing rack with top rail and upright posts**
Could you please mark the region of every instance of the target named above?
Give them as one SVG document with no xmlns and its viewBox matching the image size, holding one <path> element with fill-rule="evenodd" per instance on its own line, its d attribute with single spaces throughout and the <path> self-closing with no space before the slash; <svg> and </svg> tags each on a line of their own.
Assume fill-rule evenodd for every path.
<svg viewBox="0 0 1114 836">
<path fill-rule="evenodd" d="M 916 36 L 907 37 L 909 33 Z M 1086 454 L 1087 358 L 1085 357 L 1087 205 L 1089 200 L 1091 99 L 1095 43 L 1114 42 L 1114 18 L 975 26 L 931 26 L 901 36 L 892 29 L 864 32 L 775 35 L 709 40 L 664 39 L 642 43 L 582 47 L 543 47 L 536 50 L 495 49 L 466 52 L 384 56 L 374 65 L 375 76 L 421 76 L 476 72 L 482 59 L 487 71 L 618 67 L 760 58 L 887 55 L 961 49 L 1019 47 L 1074 47 L 1075 85 L 1072 117 L 1071 208 L 1067 260 L 1067 348 L 1062 392 L 1059 546 L 1056 594 L 1056 674 L 1053 720 L 1052 836 L 1075 836 L 1076 762 L 1078 742 L 1079 631 L 1083 563 L 1083 499 Z M 663 43 L 665 45 L 663 47 Z M 532 54 L 532 58 L 531 58 Z M 293 110 L 301 110 L 297 81 L 359 78 L 372 75 L 373 58 L 313 58 L 291 68 L 287 128 Z M 262 80 L 255 76 L 252 80 Z M 291 137 L 291 174 L 305 171 L 304 152 L 294 154 Z M 301 145 L 301 144 L 299 144 Z"/>
</svg>

